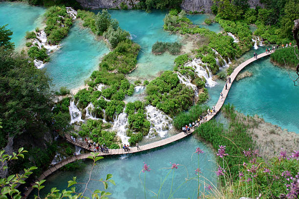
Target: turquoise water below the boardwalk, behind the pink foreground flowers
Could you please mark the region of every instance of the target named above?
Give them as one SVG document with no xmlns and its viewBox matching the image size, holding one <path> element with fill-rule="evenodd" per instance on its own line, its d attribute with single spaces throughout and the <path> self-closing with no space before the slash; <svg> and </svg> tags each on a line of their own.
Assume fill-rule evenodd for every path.
<svg viewBox="0 0 299 199">
<path fill-rule="evenodd" d="M 170 162 L 180 164 L 174 170 L 173 188 L 175 190 L 185 179 L 195 177 L 195 169 L 198 165 L 198 157 L 194 154 L 195 149 L 200 147 L 205 152 L 199 155 L 199 168 L 203 172 L 202 175 L 211 180 L 216 186 L 215 176 L 215 159 L 213 152 L 208 146 L 191 137 L 182 139 L 175 143 L 152 149 L 146 152 L 135 153 L 131 155 L 105 157 L 96 164 L 91 177 L 92 179 L 106 178 L 108 173 L 113 175 L 116 186 L 109 185 L 107 191 L 112 193 L 111 199 L 144 199 L 144 173 L 141 172 L 143 162 L 149 165 L 150 172 L 146 172 L 146 187 L 147 197 L 153 196 L 151 191 L 158 193 L 160 180 L 164 179 L 170 171 Z M 193 156 L 192 156 L 193 154 Z M 44 185 L 43 193 L 49 192 L 50 187 L 58 187 L 64 189 L 67 187 L 67 180 L 77 176 L 77 181 L 86 182 L 88 179 L 91 162 L 82 171 L 72 172 L 56 172 L 54 175 L 47 178 Z M 170 175 L 163 185 L 161 197 L 168 198 L 171 189 Z M 201 179 L 204 180 L 204 179 Z M 142 181 L 142 182 L 141 182 Z M 208 180 L 205 180 L 207 183 Z M 203 187 L 203 186 L 201 186 Z M 88 188 L 93 191 L 95 189 L 104 190 L 103 184 L 98 181 L 91 181 Z M 83 184 L 78 184 L 77 191 L 83 191 Z M 197 182 L 189 180 L 183 184 L 173 195 L 173 198 L 188 198 L 196 199 Z M 86 192 L 87 196 L 90 193 Z"/>
</svg>

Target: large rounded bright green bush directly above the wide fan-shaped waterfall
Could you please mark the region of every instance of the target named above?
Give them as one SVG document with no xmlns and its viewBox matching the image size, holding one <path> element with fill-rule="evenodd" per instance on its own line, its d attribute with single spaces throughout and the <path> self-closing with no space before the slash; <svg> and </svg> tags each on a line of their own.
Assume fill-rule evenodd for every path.
<svg viewBox="0 0 299 199">
<path fill-rule="evenodd" d="M 160 77 L 150 81 L 146 93 L 148 103 L 171 116 L 187 110 L 194 97 L 192 88 L 179 83 L 177 74 L 172 71 L 165 71 Z"/>
</svg>

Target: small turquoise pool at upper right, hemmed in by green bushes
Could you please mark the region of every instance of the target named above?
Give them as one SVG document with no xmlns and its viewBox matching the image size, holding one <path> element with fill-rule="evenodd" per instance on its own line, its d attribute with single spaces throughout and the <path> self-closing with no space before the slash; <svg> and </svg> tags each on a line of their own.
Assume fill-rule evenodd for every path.
<svg viewBox="0 0 299 199">
<path fill-rule="evenodd" d="M 187 15 L 193 24 L 199 25 L 201 28 L 207 28 L 215 33 L 220 33 L 223 31 L 223 28 L 220 26 L 219 23 L 212 23 L 211 25 L 204 24 L 205 19 L 209 19 L 212 14 L 196 14 L 196 15 Z"/>
</svg>

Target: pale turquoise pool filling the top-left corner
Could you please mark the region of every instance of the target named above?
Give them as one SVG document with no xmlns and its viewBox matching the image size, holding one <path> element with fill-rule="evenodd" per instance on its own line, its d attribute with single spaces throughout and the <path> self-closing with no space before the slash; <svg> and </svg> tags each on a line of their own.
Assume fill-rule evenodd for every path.
<svg viewBox="0 0 299 199">
<path fill-rule="evenodd" d="M 23 2 L 0 2 L 0 26 L 6 25 L 13 31 L 11 41 L 16 49 L 25 43 L 26 31 L 33 31 L 42 26 L 45 8 L 30 6 Z"/>
</svg>

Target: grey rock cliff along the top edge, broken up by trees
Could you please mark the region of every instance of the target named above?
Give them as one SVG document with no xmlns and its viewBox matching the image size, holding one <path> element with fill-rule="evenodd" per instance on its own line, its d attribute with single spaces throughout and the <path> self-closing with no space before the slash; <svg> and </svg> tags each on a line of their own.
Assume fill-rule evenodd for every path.
<svg viewBox="0 0 299 199">
<path fill-rule="evenodd" d="M 99 8 L 121 8 L 121 3 L 126 4 L 128 9 L 134 7 L 139 0 L 77 0 L 81 3 L 82 7 L 90 9 Z M 250 8 L 255 8 L 256 6 L 263 7 L 259 0 L 248 0 Z M 186 11 L 197 11 L 211 13 L 211 6 L 213 5 L 213 0 L 183 0 L 181 8 Z"/>
</svg>

